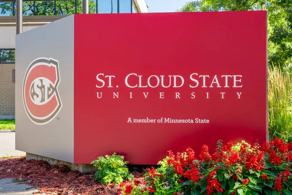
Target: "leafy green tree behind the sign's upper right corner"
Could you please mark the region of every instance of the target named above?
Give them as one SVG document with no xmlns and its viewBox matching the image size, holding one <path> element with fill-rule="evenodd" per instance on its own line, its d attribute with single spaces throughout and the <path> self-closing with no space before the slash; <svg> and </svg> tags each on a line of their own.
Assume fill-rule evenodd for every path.
<svg viewBox="0 0 292 195">
<path fill-rule="evenodd" d="M 267 10 L 269 66 L 292 68 L 292 0 L 195 0 L 179 12 Z"/>
</svg>

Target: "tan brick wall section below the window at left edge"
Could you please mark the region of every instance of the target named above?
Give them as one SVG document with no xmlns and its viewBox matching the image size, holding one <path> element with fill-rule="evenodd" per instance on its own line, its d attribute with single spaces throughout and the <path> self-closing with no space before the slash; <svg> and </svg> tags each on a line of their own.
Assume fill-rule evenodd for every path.
<svg viewBox="0 0 292 195">
<path fill-rule="evenodd" d="M 15 115 L 15 83 L 12 82 L 13 69 L 15 69 L 15 64 L 0 64 L 0 119 L 14 118 Z"/>
</svg>

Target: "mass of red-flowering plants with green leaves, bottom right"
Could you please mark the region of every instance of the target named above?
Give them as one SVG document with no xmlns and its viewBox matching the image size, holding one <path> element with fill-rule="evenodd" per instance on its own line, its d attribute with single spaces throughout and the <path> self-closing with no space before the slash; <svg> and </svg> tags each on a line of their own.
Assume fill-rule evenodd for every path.
<svg viewBox="0 0 292 195">
<path fill-rule="evenodd" d="M 169 151 L 160 168 L 147 170 L 146 180 L 158 195 L 292 195 L 291 151 L 292 143 L 278 138 L 262 147 L 219 140 L 212 156 L 202 147 L 201 160 L 190 148 Z"/>
</svg>

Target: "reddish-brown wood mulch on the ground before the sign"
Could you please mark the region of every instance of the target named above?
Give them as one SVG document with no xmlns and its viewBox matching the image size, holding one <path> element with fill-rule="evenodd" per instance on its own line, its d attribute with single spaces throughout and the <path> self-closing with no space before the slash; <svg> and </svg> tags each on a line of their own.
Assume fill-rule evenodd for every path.
<svg viewBox="0 0 292 195">
<path fill-rule="evenodd" d="M 10 170 L 10 171 L 8 171 Z M 132 173 L 145 186 L 143 173 Z M 103 185 L 91 175 L 70 171 L 64 165 L 50 166 L 45 161 L 30 160 L 25 157 L 0 159 L 0 179 L 15 178 L 25 180 L 25 184 L 35 186 L 34 194 L 53 195 L 117 195 L 118 184 Z"/>
</svg>

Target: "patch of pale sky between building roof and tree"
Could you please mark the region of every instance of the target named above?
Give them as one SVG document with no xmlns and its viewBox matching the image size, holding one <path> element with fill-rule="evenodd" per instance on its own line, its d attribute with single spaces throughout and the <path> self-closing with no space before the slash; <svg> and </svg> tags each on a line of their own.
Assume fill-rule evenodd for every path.
<svg viewBox="0 0 292 195">
<path fill-rule="evenodd" d="M 149 12 L 175 12 L 191 0 L 145 0 Z"/>
</svg>

